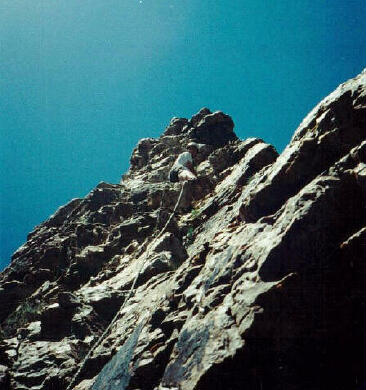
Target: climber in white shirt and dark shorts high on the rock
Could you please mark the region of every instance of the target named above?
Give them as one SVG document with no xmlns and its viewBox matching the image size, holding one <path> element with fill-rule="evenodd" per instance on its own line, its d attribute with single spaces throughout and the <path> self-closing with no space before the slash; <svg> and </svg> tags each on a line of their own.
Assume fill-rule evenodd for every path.
<svg viewBox="0 0 366 390">
<path fill-rule="evenodd" d="M 197 156 L 198 151 L 199 146 L 195 142 L 190 142 L 187 145 L 187 152 L 183 152 L 177 157 L 169 172 L 169 180 L 171 182 L 197 180 L 194 170 L 194 159 Z"/>
</svg>

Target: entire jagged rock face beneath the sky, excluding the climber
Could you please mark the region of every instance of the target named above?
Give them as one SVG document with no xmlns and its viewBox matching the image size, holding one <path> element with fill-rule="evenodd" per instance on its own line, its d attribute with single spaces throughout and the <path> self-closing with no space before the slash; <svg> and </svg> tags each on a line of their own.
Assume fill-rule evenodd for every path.
<svg viewBox="0 0 366 390">
<path fill-rule="evenodd" d="M 366 73 L 281 155 L 202 109 L 139 142 L 1 274 L 2 389 L 360 389 Z M 169 183 L 190 141 L 199 180 Z"/>
</svg>

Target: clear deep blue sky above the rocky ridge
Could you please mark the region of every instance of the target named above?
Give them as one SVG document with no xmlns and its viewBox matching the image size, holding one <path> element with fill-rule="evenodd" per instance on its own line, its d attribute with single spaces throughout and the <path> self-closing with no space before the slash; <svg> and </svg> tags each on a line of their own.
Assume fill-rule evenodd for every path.
<svg viewBox="0 0 366 390">
<path fill-rule="evenodd" d="M 365 67 L 365 24 L 364 0 L 1 0 L 1 263 L 172 116 L 223 110 L 281 151 Z"/>
</svg>

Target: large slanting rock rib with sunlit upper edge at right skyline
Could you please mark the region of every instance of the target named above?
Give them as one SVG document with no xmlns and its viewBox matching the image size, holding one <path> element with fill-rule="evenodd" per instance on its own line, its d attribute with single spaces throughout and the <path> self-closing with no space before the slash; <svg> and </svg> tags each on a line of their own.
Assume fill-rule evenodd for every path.
<svg viewBox="0 0 366 390">
<path fill-rule="evenodd" d="M 243 203 L 247 221 L 274 213 L 300 188 L 363 141 L 363 72 L 340 85 L 303 120 L 276 163 Z"/>
</svg>

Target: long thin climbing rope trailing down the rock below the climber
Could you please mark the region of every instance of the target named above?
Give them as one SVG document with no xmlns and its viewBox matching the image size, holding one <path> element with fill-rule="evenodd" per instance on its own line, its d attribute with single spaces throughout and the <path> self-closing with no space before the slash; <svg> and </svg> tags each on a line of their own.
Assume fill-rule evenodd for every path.
<svg viewBox="0 0 366 390">
<path fill-rule="evenodd" d="M 117 319 L 119 317 L 119 314 L 122 312 L 122 310 L 125 308 L 125 305 L 127 303 L 127 301 L 132 297 L 132 293 L 133 293 L 133 290 L 135 288 L 135 285 L 136 285 L 136 282 L 141 274 L 141 271 L 145 265 L 145 262 L 146 260 L 148 259 L 148 255 L 150 254 L 150 248 L 152 247 L 152 244 L 158 239 L 160 238 L 165 230 L 168 228 L 174 214 L 176 213 L 177 209 L 178 209 L 178 206 L 179 206 L 179 203 L 182 199 L 182 195 L 183 195 L 183 191 L 184 191 L 184 187 L 185 187 L 185 183 L 186 182 L 183 182 L 182 183 L 182 188 L 180 190 L 180 193 L 179 193 L 179 197 L 178 197 L 178 200 L 177 200 L 177 203 L 175 204 L 175 207 L 173 209 L 173 212 L 171 213 L 170 217 L 168 218 L 168 221 L 166 222 L 166 224 L 164 225 L 163 229 L 160 231 L 160 233 L 152 240 L 150 246 L 148 247 L 148 250 L 146 252 L 146 255 L 145 255 L 145 259 L 143 259 L 143 261 L 141 262 L 141 266 L 140 266 L 140 269 L 132 283 L 132 286 L 130 288 L 130 291 L 127 295 L 127 298 L 124 300 L 122 306 L 120 307 L 120 309 L 118 310 L 118 312 L 116 313 L 116 315 L 113 317 L 112 321 L 110 322 L 110 324 L 107 326 L 107 328 L 104 330 L 104 332 L 102 333 L 102 335 L 98 338 L 98 340 L 95 342 L 95 344 L 89 349 L 89 352 L 86 354 L 86 356 L 84 357 L 84 359 L 82 360 L 82 362 L 80 363 L 80 367 L 79 369 L 76 371 L 75 375 L 72 377 L 71 379 L 71 382 L 70 384 L 67 386 L 66 390 L 71 390 L 74 385 L 76 384 L 77 380 L 79 379 L 79 376 L 80 376 L 80 373 L 82 372 L 83 368 L 85 367 L 85 364 L 87 362 L 87 360 L 89 360 L 89 358 L 91 357 L 92 353 L 95 351 L 95 349 L 97 347 L 99 347 L 99 345 L 101 344 L 101 342 L 103 341 L 103 339 L 105 338 L 105 336 L 109 333 L 109 331 L 111 330 L 112 326 L 117 322 Z M 150 317 L 147 316 L 145 321 L 144 321 L 144 324 L 146 324 L 148 318 Z"/>
</svg>

